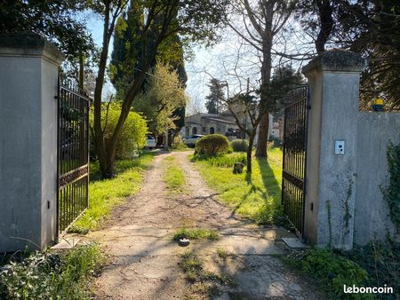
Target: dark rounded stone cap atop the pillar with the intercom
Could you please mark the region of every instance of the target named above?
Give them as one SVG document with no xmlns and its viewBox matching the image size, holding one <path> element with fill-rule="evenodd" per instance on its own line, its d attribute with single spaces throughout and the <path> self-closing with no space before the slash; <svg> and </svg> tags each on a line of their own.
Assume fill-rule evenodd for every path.
<svg viewBox="0 0 400 300">
<path fill-rule="evenodd" d="M 315 72 L 337 71 L 337 72 L 363 72 L 368 66 L 367 59 L 352 51 L 333 49 L 324 51 L 315 59 L 311 59 L 308 65 L 302 68 L 306 76 Z"/>
</svg>

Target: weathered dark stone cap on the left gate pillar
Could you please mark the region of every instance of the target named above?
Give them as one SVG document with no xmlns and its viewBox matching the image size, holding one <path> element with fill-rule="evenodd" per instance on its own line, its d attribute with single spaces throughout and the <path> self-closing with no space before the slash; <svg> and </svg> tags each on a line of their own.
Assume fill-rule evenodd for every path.
<svg viewBox="0 0 400 300">
<path fill-rule="evenodd" d="M 0 56 L 43 57 L 57 66 L 65 59 L 57 45 L 32 32 L 0 34 Z"/>
</svg>

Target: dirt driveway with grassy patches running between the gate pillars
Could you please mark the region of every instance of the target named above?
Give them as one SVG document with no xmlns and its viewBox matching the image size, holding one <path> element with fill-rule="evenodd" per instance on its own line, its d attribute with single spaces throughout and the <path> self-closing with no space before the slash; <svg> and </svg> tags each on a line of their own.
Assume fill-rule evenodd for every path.
<svg viewBox="0 0 400 300">
<path fill-rule="evenodd" d="M 275 255 L 282 229 L 262 229 L 232 215 L 218 195 L 204 184 L 188 152 L 160 153 L 145 174 L 140 193 L 116 208 L 88 238 L 100 241 L 112 257 L 95 285 L 99 299 L 316 299 L 309 282 L 284 267 Z M 186 177 L 186 192 L 168 193 L 163 176 L 166 156 L 173 155 Z M 220 233 L 219 241 L 192 241 L 181 248 L 171 241 L 177 228 L 205 227 Z M 217 249 L 229 254 L 223 260 Z M 204 269 L 235 284 L 192 284 L 180 270 L 180 257 L 193 250 Z M 208 285 L 208 286 L 207 286 Z M 208 289 L 207 289 L 208 288 Z"/>
</svg>

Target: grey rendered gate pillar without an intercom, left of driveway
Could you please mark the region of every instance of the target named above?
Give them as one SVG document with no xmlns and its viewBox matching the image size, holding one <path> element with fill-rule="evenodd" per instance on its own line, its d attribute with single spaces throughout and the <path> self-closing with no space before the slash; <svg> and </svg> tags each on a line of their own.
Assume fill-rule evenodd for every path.
<svg viewBox="0 0 400 300">
<path fill-rule="evenodd" d="M 61 52 L 36 34 L 0 35 L 0 252 L 56 235 Z"/>
</svg>

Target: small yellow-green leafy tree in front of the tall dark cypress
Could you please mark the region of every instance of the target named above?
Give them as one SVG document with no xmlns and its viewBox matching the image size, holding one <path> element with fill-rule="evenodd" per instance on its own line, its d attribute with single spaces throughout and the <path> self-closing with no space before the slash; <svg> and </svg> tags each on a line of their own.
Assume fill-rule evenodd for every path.
<svg viewBox="0 0 400 300">
<path fill-rule="evenodd" d="M 153 134 L 164 134 L 164 146 L 168 146 L 168 132 L 176 128 L 178 119 L 174 113 L 178 107 L 185 107 L 187 100 L 178 73 L 170 66 L 158 63 L 134 107 L 146 116 Z"/>
</svg>

